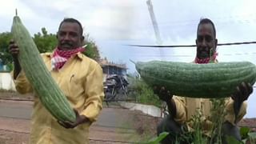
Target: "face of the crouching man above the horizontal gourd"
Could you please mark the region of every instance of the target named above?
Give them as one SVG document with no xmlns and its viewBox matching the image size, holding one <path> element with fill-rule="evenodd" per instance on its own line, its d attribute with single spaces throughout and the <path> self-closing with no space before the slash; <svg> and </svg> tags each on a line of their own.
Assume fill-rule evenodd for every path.
<svg viewBox="0 0 256 144">
<path fill-rule="evenodd" d="M 203 23 L 198 27 L 197 58 L 210 58 L 214 54 L 217 39 L 214 37 L 214 27 L 210 23 Z M 211 51 L 211 55 L 210 55 Z"/>
</svg>

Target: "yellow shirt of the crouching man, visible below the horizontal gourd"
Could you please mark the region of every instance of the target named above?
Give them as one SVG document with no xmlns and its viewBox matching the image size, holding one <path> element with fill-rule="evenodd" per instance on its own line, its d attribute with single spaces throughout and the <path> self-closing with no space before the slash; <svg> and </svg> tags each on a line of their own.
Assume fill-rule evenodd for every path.
<svg viewBox="0 0 256 144">
<path fill-rule="evenodd" d="M 218 62 L 217 60 L 215 63 Z M 185 124 L 188 126 L 189 130 L 193 130 L 193 122 L 189 122 L 190 119 L 196 114 L 197 110 L 202 111 L 202 126 L 203 132 L 206 135 L 209 135 L 210 129 L 212 126 L 212 122 L 210 121 L 210 109 L 211 109 L 211 102 L 209 98 L 187 98 L 187 97 L 180 97 L 174 96 L 174 102 L 176 105 L 177 114 L 174 120 L 179 124 Z M 235 125 L 239 122 L 243 116 L 246 114 L 246 107 L 247 103 L 243 102 L 241 109 L 238 112 L 238 118 L 235 119 L 234 116 L 234 101 L 232 98 L 226 99 L 226 116 L 224 121 L 228 121 Z M 236 122 L 235 122 L 236 120 Z"/>
</svg>

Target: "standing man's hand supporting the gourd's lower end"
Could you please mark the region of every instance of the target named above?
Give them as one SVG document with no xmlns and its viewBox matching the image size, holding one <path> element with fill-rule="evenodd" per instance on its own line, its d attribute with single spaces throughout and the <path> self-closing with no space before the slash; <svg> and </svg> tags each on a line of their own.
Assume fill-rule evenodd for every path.
<svg viewBox="0 0 256 144">
<path fill-rule="evenodd" d="M 76 126 L 78 126 L 78 125 L 80 125 L 84 122 L 89 122 L 90 121 L 84 115 L 79 115 L 77 110 L 74 110 L 74 113 L 75 113 L 75 116 L 76 116 L 76 121 L 74 123 L 57 121 L 58 124 L 65 127 L 66 129 L 73 129 L 74 127 L 76 127 Z"/>
</svg>

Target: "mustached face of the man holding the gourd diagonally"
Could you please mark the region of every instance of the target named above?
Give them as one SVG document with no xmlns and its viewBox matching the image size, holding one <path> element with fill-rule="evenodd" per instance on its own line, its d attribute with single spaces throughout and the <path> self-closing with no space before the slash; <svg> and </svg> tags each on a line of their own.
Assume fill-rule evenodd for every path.
<svg viewBox="0 0 256 144">
<path fill-rule="evenodd" d="M 61 50 L 73 50 L 82 45 L 80 27 L 75 22 L 63 22 L 57 34 L 58 47 Z"/>
</svg>

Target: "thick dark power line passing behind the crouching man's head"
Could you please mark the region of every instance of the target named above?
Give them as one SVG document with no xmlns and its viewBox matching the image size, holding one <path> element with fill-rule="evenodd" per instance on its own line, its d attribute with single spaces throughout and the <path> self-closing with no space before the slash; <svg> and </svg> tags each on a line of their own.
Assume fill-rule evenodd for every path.
<svg viewBox="0 0 256 144">
<path fill-rule="evenodd" d="M 248 45 L 256 44 L 256 41 L 253 42 L 228 42 L 228 43 L 219 43 L 217 46 L 231 46 L 231 45 Z M 126 45 L 126 46 L 138 46 L 138 47 L 195 47 L 196 45 Z"/>
</svg>

